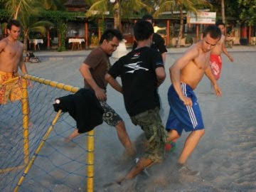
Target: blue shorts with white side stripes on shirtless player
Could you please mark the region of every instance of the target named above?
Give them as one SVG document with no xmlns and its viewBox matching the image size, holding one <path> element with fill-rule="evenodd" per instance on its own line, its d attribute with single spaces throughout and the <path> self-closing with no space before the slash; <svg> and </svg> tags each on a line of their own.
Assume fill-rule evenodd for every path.
<svg viewBox="0 0 256 192">
<path fill-rule="evenodd" d="M 184 105 L 174 90 L 174 86 L 171 85 L 168 91 L 170 112 L 166 122 L 166 130 L 174 129 L 181 135 L 183 129 L 186 132 L 204 129 L 203 118 L 195 93 L 186 83 L 181 83 L 181 89 L 183 95 L 191 98 L 193 105 L 192 107 Z"/>
</svg>

